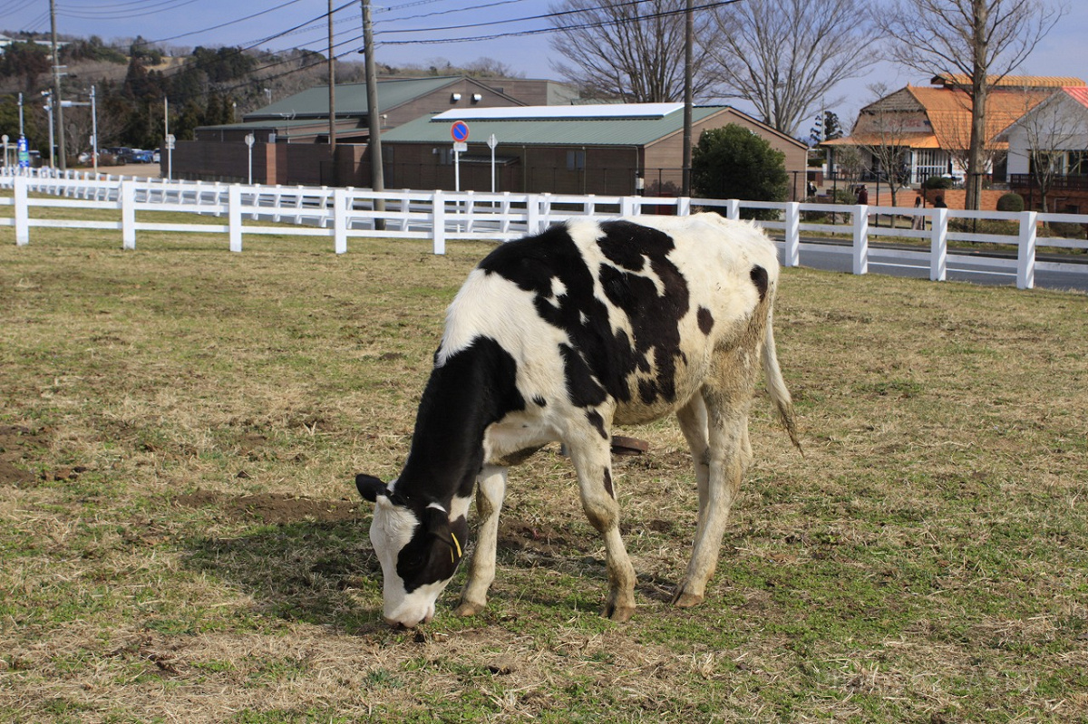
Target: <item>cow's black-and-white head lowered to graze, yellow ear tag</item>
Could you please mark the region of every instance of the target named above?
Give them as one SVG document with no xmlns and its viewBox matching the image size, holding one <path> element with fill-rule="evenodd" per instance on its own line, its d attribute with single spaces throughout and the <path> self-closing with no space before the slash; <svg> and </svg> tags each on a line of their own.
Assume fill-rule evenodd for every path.
<svg viewBox="0 0 1088 724">
<path fill-rule="evenodd" d="M 385 622 L 408 628 L 428 623 L 463 556 L 465 517 L 450 521 L 441 504 L 406 498 L 370 475 L 357 475 L 355 485 L 374 503 L 370 542 L 382 564 Z"/>
</svg>

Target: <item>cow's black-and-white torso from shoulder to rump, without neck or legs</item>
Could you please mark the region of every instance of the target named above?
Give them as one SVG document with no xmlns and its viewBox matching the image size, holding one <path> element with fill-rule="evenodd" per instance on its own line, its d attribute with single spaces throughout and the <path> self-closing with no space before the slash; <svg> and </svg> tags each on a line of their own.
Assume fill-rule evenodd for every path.
<svg viewBox="0 0 1088 724">
<path fill-rule="evenodd" d="M 450 305 L 438 363 L 479 336 L 517 362 L 527 400 L 658 417 L 742 342 L 772 294 L 774 244 L 717 214 L 576 221 L 489 254 Z"/>
</svg>

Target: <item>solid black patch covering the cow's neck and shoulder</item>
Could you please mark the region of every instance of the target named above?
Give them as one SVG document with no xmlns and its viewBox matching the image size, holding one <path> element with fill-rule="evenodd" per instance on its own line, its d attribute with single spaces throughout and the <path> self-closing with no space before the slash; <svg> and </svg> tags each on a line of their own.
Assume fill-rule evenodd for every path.
<svg viewBox="0 0 1088 724">
<path fill-rule="evenodd" d="M 431 372 L 416 416 L 408 461 L 396 491 L 413 507 L 472 495 L 483 464 L 484 430 L 526 409 L 518 364 L 497 341 L 477 337 Z"/>
</svg>

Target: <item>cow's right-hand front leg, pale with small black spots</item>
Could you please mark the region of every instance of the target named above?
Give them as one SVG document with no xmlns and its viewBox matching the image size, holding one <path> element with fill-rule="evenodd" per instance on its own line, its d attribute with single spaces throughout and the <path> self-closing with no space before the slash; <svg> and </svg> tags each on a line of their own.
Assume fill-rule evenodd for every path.
<svg viewBox="0 0 1088 724">
<path fill-rule="evenodd" d="M 607 437 L 594 430 L 583 442 L 570 445 L 570 458 L 578 472 L 582 509 L 605 544 L 608 569 L 608 599 L 603 615 L 618 623 L 634 615 L 634 566 L 619 534 L 619 503 L 611 478 L 611 448 Z"/>
</svg>

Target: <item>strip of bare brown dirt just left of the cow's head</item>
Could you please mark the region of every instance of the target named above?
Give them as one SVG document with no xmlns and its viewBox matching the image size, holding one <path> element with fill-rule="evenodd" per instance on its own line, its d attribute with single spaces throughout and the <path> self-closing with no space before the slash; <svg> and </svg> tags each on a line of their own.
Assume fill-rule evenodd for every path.
<svg viewBox="0 0 1088 724">
<path fill-rule="evenodd" d="M 335 523 L 361 520 L 359 504 L 348 500 L 296 498 L 281 492 L 251 496 L 228 496 L 212 490 L 177 496 L 175 505 L 185 508 L 219 508 L 231 520 L 286 523 Z"/>
</svg>

